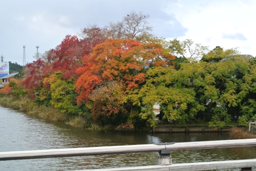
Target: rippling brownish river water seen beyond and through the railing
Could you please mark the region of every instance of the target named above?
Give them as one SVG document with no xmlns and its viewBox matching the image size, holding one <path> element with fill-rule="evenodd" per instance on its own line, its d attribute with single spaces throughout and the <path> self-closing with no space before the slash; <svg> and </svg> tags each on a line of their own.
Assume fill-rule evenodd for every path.
<svg viewBox="0 0 256 171">
<path fill-rule="evenodd" d="M 0 152 L 227 140 L 228 133 L 141 133 L 84 130 L 0 107 Z M 158 153 L 0 161 L 0 170 L 79 170 L 157 165 Z M 173 163 L 256 158 L 255 148 L 172 152 Z M 240 169 L 230 169 L 240 170 Z M 255 169 L 256 170 L 256 169 Z"/>
</svg>

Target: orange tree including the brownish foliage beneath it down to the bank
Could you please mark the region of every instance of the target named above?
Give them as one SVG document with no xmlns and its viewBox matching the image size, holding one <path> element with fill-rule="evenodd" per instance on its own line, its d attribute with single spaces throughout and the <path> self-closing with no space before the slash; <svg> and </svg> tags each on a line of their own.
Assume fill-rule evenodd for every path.
<svg viewBox="0 0 256 171">
<path fill-rule="evenodd" d="M 161 44 L 154 42 L 106 40 L 95 46 L 92 54 L 84 57 L 86 64 L 77 69 L 80 74 L 75 83 L 77 103 L 88 107 L 91 104 L 94 121 L 98 123 L 104 123 L 99 115 L 132 119 L 131 113 L 139 106 L 127 99 L 127 95 L 141 88 L 148 68 L 166 67 L 173 59 Z"/>
</svg>

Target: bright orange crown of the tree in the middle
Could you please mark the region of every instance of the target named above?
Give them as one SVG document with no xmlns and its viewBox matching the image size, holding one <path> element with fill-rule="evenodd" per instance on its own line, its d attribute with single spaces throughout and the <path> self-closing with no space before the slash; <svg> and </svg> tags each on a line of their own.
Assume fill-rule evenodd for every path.
<svg viewBox="0 0 256 171">
<path fill-rule="evenodd" d="M 77 103 L 81 105 L 89 101 L 101 100 L 105 104 L 106 99 L 109 99 L 109 93 L 99 92 L 107 92 L 105 83 L 113 83 L 113 81 L 119 82 L 118 87 L 122 87 L 119 89 L 122 92 L 119 93 L 124 96 L 127 91 L 137 89 L 144 84 L 145 73 L 149 67 L 165 67 L 173 59 L 174 57 L 159 43 L 127 39 L 106 40 L 96 45 L 91 55 L 84 56 L 83 67 L 77 69 L 80 75 L 75 83 L 76 92 L 79 94 Z M 97 95 L 95 99 L 95 94 L 101 96 Z M 118 110 L 123 111 L 124 101 L 119 99 L 118 103 L 116 106 L 120 106 L 119 109 L 110 108 L 107 104 L 101 108 L 105 109 L 108 106 L 109 114 L 118 113 Z M 102 103 L 97 104 L 102 105 Z"/>
</svg>

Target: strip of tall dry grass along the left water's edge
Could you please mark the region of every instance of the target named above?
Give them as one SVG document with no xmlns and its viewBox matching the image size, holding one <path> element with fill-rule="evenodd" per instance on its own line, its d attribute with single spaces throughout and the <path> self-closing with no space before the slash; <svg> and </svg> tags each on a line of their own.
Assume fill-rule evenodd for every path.
<svg viewBox="0 0 256 171">
<path fill-rule="evenodd" d="M 30 116 L 37 116 L 52 121 L 63 121 L 66 124 L 75 127 L 84 126 L 84 120 L 79 115 L 70 116 L 51 107 L 37 106 L 33 101 L 28 99 L 16 100 L 10 96 L 3 96 L 0 97 L 0 105 L 26 113 Z"/>
</svg>

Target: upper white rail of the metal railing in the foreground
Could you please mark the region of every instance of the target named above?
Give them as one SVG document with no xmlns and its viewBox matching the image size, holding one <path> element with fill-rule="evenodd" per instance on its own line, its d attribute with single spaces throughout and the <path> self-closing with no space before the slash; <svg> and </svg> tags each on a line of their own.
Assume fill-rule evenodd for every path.
<svg viewBox="0 0 256 171">
<path fill-rule="evenodd" d="M 179 150 L 215 149 L 215 148 L 236 148 L 236 147 L 242 147 L 242 146 L 256 146 L 256 139 L 159 143 L 159 144 L 144 144 L 144 145 L 99 146 L 99 147 L 75 148 L 75 149 L 0 152 L 0 161 L 1 160 L 52 158 L 52 157 L 92 156 L 92 155 L 121 154 L 121 153 L 161 152 L 163 150 L 179 151 Z"/>
</svg>

